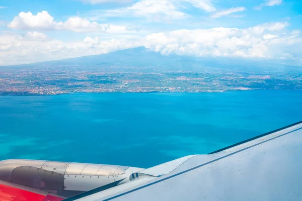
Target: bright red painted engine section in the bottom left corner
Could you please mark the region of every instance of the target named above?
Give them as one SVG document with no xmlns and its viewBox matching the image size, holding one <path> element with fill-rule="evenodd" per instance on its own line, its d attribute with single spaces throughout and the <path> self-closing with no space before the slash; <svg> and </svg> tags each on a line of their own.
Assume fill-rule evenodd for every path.
<svg viewBox="0 0 302 201">
<path fill-rule="evenodd" d="M 62 197 L 0 181 L 0 201 L 60 201 Z"/>
</svg>

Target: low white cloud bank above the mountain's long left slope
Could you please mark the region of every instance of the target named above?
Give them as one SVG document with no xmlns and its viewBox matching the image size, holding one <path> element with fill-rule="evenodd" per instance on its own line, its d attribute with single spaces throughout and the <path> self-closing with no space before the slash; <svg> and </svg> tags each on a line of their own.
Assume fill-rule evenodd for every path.
<svg viewBox="0 0 302 201">
<path fill-rule="evenodd" d="M 137 39 L 108 40 L 87 37 L 83 41 L 63 42 L 49 37 L 43 40 L 43 37 L 41 33 L 34 32 L 26 33 L 24 36 L 12 32 L 0 34 L 0 65 L 102 54 L 141 45 Z M 38 38 L 42 38 L 43 42 Z"/>
</svg>

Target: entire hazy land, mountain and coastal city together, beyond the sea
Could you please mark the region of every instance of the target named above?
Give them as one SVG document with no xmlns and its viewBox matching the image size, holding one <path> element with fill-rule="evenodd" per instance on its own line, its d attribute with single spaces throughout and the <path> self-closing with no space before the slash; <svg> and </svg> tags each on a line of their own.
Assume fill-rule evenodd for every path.
<svg viewBox="0 0 302 201">
<path fill-rule="evenodd" d="M 2 67 L 0 94 L 301 90 L 301 67 L 163 56 L 145 48 Z"/>
</svg>

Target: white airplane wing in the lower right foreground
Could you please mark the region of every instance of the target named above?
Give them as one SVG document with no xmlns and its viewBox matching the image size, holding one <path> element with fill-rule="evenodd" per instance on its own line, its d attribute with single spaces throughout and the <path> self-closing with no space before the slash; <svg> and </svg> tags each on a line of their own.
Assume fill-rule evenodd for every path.
<svg viewBox="0 0 302 201">
<path fill-rule="evenodd" d="M 302 200 L 302 122 L 130 175 L 68 200 Z"/>
</svg>

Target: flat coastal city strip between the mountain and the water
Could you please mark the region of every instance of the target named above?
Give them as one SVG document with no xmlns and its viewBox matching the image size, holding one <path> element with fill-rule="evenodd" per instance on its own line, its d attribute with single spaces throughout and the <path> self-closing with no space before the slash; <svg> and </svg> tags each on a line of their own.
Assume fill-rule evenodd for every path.
<svg viewBox="0 0 302 201">
<path fill-rule="evenodd" d="M 51 95 L 72 92 L 223 92 L 255 89 L 302 89 L 295 73 L 235 69 L 173 71 L 157 68 L 71 67 L 14 68 L 0 71 L 1 95 Z"/>
</svg>

